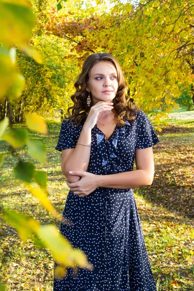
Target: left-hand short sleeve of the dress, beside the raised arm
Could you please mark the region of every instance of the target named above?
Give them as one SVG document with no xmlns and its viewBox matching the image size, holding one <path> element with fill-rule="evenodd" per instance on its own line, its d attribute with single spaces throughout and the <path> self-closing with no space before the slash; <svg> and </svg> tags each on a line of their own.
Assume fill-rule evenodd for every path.
<svg viewBox="0 0 194 291">
<path fill-rule="evenodd" d="M 59 140 L 55 149 L 62 151 L 63 149 L 76 147 L 76 137 L 76 126 L 64 120 L 61 125 Z"/>
</svg>

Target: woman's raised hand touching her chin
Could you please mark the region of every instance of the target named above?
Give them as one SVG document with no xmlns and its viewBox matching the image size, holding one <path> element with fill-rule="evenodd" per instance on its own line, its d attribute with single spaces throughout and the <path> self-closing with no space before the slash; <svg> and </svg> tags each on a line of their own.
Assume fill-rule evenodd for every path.
<svg viewBox="0 0 194 291">
<path fill-rule="evenodd" d="M 97 124 L 98 118 L 103 115 L 107 110 L 112 110 L 113 108 L 113 103 L 105 101 L 97 102 L 97 104 L 90 108 L 90 112 L 88 113 L 84 127 L 93 129 L 95 124 Z"/>
</svg>

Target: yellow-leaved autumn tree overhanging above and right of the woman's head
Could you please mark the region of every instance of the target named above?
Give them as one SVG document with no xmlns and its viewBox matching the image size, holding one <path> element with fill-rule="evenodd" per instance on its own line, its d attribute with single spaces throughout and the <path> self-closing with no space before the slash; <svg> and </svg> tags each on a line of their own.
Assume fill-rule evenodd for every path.
<svg viewBox="0 0 194 291">
<path fill-rule="evenodd" d="M 44 30 L 68 39 L 72 51 L 79 54 L 78 62 L 91 52 L 116 56 L 129 84 L 129 96 L 160 122 L 193 81 L 192 64 L 186 58 L 193 48 L 193 2 L 113 1 L 106 12 L 98 5 L 95 8 L 94 13 L 88 8 L 88 16 L 80 11 L 80 17 L 61 17 L 53 9 Z"/>
</svg>

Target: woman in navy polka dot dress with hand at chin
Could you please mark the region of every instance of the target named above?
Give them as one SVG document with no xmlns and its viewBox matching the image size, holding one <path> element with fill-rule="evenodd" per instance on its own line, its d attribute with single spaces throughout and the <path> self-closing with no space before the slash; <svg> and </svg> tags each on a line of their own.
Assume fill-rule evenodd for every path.
<svg viewBox="0 0 194 291">
<path fill-rule="evenodd" d="M 69 268 L 64 279 L 54 278 L 54 291 L 156 291 L 132 188 L 151 185 L 159 140 L 126 97 L 111 54 L 87 57 L 75 87 L 56 146 L 70 188 L 63 215 L 73 222 L 60 231 L 94 270 L 73 277 Z"/>
</svg>

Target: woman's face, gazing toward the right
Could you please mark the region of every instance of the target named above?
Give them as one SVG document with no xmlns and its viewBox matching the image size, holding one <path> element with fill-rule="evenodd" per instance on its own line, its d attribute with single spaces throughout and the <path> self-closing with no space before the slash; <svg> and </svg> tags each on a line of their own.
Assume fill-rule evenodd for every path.
<svg viewBox="0 0 194 291">
<path fill-rule="evenodd" d="M 111 62 L 99 62 L 90 71 L 88 87 L 92 105 L 99 101 L 111 102 L 116 96 L 118 79 L 116 68 Z"/>
</svg>

